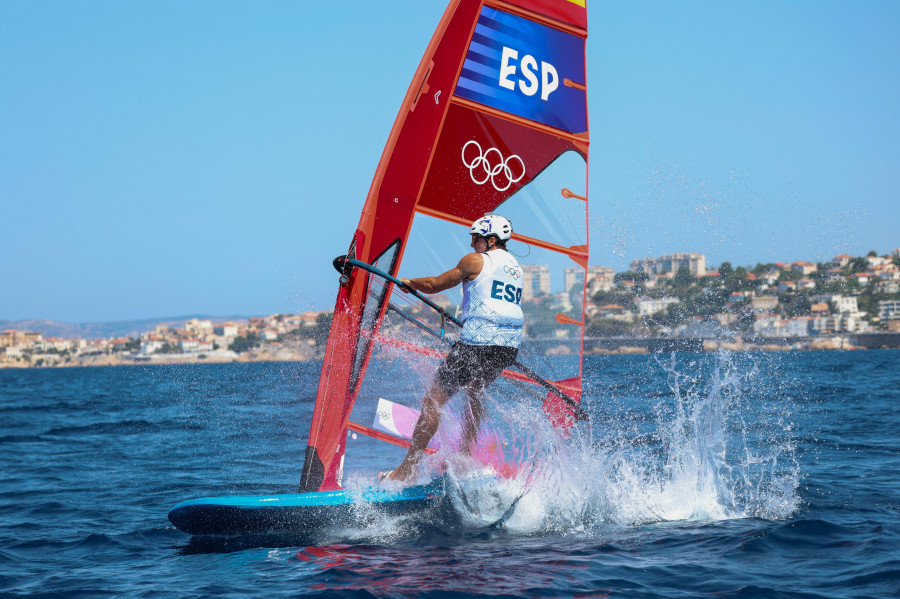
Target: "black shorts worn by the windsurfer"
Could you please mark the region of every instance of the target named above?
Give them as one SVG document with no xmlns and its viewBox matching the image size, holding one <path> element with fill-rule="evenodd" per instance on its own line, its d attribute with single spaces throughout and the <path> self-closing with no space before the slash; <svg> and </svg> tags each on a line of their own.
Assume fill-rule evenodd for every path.
<svg viewBox="0 0 900 599">
<path fill-rule="evenodd" d="M 515 347 L 457 341 L 438 367 L 434 380 L 447 395 L 453 395 L 460 387 L 480 392 L 511 366 L 518 355 Z"/>
</svg>

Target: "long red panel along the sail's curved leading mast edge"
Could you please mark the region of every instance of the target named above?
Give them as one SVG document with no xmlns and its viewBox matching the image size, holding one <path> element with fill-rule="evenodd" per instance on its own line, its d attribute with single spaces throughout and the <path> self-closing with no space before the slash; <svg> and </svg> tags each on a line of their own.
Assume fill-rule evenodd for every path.
<svg viewBox="0 0 900 599">
<path fill-rule="evenodd" d="M 481 7 L 450 3 L 423 56 L 394 122 L 366 197 L 351 253 L 393 273 L 403 252 L 431 151 Z M 335 304 L 310 426 L 301 491 L 340 487 L 346 421 L 371 351 L 385 297 L 370 297 L 368 277 L 348 273 Z"/>
</svg>

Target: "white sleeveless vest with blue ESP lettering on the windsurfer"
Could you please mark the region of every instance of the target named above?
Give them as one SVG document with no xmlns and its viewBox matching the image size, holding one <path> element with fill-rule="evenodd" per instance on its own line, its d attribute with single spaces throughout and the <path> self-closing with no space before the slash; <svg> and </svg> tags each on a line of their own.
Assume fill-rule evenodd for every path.
<svg viewBox="0 0 900 599">
<path fill-rule="evenodd" d="M 481 272 L 463 281 L 460 340 L 469 345 L 519 347 L 522 340 L 522 267 L 512 254 L 496 249 L 481 254 Z"/>
</svg>

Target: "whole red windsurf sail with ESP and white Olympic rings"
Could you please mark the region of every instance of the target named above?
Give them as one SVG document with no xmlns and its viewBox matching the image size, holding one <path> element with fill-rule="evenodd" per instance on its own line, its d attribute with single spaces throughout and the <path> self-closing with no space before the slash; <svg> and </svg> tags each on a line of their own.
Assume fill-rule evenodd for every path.
<svg viewBox="0 0 900 599">
<path fill-rule="evenodd" d="M 453 0 L 407 90 L 347 253 L 389 277 L 401 262 L 405 276 L 437 274 L 471 251 L 472 221 L 487 212 L 509 218 L 527 252 L 520 262 L 536 266 L 523 299 L 526 335 L 541 336 L 543 313 L 558 303 L 547 293 L 546 267 L 565 276 L 565 322 L 578 351 L 552 380 L 524 363 L 504 374 L 543 387 L 544 411 L 562 429 L 574 422 L 581 393 L 586 38 L 584 0 Z M 388 435 L 350 420 L 361 395 L 378 397 L 367 386 L 373 356 L 437 360 L 456 326 L 389 279 L 346 261 L 340 270 L 300 491 L 341 488 L 348 430 Z"/>
</svg>

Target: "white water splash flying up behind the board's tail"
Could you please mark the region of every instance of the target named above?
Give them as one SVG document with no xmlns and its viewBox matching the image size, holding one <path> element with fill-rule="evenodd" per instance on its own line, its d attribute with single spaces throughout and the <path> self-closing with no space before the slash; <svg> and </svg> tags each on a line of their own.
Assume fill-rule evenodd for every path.
<svg viewBox="0 0 900 599">
<path fill-rule="evenodd" d="M 470 483 L 460 511 L 473 526 L 500 522 L 519 534 L 790 516 L 800 480 L 790 407 L 767 395 L 761 366 L 728 352 L 656 365 L 663 398 L 643 419 L 628 406 L 631 416 L 606 420 L 602 432 L 595 424 L 564 440 L 517 409 L 507 428 L 528 434 L 506 449 L 519 471 L 482 489 Z"/>
</svg>

